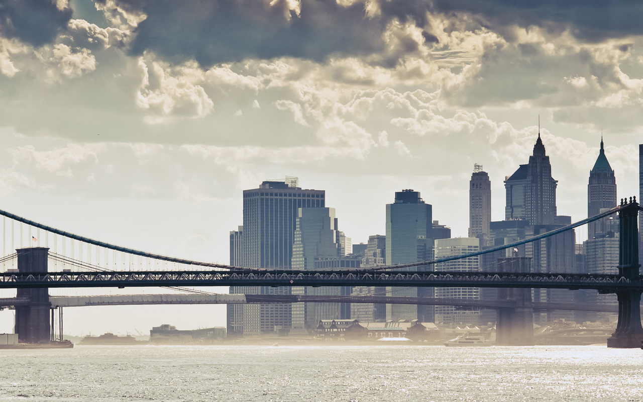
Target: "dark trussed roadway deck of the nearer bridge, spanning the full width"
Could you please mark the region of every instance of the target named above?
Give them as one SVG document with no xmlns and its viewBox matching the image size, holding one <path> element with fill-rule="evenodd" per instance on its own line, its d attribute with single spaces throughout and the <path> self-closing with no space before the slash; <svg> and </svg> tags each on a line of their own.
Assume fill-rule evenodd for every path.
<svg viewBox="0 0 643 402">
<path fill-rule="evenodd" d="M 156 286 L 414 286 L 643 291 L 643 276 L 417 271 L 101 271 L 0 273 L 0 289 Z"/>
</svg>

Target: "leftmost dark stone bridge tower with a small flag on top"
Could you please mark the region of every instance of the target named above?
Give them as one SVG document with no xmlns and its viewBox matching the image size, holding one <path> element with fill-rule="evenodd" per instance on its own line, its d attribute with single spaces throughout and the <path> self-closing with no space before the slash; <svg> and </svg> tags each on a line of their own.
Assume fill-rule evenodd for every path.
<svg viewBox="0 0 643 402">
<path fill-rule="evenodd" d="M 21 273 L 47 272 L 49 248 L 19 248 L 18 271 Z M 48 288 L 17 289 L 17 297 L 29 298 L 28 306 L 15 307 L 15 333 L 19 342 L 48 343 L 51 338 L 49 314 L 51 303 Z"/>
</svg>

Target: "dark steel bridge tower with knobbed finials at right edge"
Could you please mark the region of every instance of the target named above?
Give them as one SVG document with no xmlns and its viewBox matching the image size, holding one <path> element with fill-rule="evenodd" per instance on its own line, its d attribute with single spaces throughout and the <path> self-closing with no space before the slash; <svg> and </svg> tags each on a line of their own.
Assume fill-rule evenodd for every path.
<svg viewBox="0 0 643 402">
<path fill-rule="evenodd" d="M 638 203 L 637 197 L 620 200 L 619 212 L 619 275 L 628 279 L 638 279 Z M 640 290 L 621 290 L 616 292 L 619 300 L 619 322 L 616 331 L 607 340 L 608 347 L 641 347 L 643 327 L 640 315 Z"/>
</svg>

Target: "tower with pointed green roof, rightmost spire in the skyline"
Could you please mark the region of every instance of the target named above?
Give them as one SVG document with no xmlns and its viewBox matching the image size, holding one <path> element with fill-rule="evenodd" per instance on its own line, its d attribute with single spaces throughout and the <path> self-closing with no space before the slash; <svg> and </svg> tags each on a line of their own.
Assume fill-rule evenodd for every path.
<svg viewBox="0 0 643 402">
<path fill-rule="evenodd" d="M 601 138 L 599 157 L 590 171 L 590 182 L 587 186 L 587 216 L 591 217 L 601 213 L 602 208 L 613 208 L 616 204 L 616 178 L 610 162 L 605 156 L 605 149 Z M 607 218 L 593 221 L 588 224 L 588 238 L 592 240 L 596 233 L 607 232 L 605 226 Z"/>
</svg>

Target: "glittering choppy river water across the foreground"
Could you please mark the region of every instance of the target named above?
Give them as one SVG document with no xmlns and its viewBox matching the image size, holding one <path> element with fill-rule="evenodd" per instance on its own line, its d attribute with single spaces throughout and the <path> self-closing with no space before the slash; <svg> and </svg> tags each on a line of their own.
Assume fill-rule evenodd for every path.
<svg viewBox="0 0 643 402">
<path fill-rule="evenodd" d="M 204 346 L 0 351 L 0 401 L 643 401 L 643 351 Z"/>
</svg>

